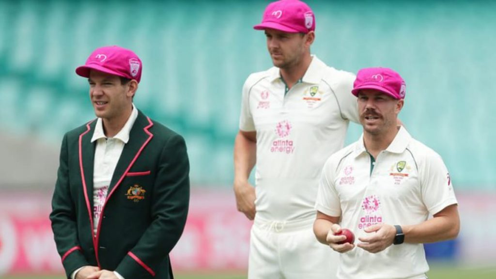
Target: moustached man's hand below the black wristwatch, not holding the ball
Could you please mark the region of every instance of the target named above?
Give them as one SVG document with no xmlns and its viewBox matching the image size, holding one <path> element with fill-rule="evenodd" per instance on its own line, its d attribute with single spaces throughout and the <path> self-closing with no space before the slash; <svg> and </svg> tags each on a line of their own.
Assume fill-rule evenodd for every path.
<svg viewBox="0 0 496 279">
<path fill-rule="evenodd" d="M 365 237 L 359 237 L 363 243 L 358 243 L 357 246 L 370 253 L 378 253 L 391 244 L 393 244 L 396 229 L 393 225 L 375 224 L 365 228 L 365 232 L 369 234 Z"/>
</svg>

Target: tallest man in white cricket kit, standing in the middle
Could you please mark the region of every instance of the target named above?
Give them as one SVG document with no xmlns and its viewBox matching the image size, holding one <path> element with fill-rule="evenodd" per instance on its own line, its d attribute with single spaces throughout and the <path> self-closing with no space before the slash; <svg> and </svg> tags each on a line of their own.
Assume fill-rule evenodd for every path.
<svg viewBox="0 0 496 279">
<path fill-rule="evenodd" d="M 274 67 L 248 76 L 235 141 L 237 207 L 254 219 L 248 278 L 333 279 L 339 254 L 315 240 L 314 204 L 326 158 L 358 123 L 355 76 L 310 55 L 315 17 L 302 1 L 270 3 L 254 29 Z"/>
</svg>

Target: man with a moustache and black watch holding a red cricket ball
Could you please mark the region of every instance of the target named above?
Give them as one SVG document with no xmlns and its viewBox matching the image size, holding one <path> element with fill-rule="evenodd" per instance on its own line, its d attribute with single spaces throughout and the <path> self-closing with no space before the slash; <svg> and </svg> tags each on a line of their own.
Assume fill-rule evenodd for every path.
<svg viewBox="0 0 496 279">
<path fill-rule="evenodd" d="M 322 169 L 313 231 L 341 253 L 339 279 L 426 279 L 423 243 L 455 238 L 460 230 L 441 157 L 396 125 L 405 89 L 391 69 L 360 70 L 352 94 L 363 136 Z"/>
</svg>

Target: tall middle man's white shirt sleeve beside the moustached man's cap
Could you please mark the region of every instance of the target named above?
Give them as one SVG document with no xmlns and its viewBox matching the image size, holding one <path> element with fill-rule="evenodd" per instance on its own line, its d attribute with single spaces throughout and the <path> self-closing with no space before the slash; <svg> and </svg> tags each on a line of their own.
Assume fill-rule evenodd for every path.
<svg viewBox="0 0 496 279">
<path fill-rule="evenodd" d="M 351 93 L 355 75 L 342 71 L 341 78 L 334 88 L 341 116 L 355 123 L 360 123 L 357 97 Z"/>
</svg>

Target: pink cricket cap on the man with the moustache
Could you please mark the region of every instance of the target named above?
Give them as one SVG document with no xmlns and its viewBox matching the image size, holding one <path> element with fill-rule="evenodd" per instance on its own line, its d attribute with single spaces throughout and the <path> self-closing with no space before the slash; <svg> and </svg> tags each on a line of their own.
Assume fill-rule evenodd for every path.
<svg viewBox="0 0 496 279">
<path fill-rule="evenodd" d="M 362 89 L 374 89 L 399 100 L 405 98 L 406 83 L 399 73 L 389 68 L 365 68 L 359 70 L 351 93 L 358 97 Z"/>
</svg>

